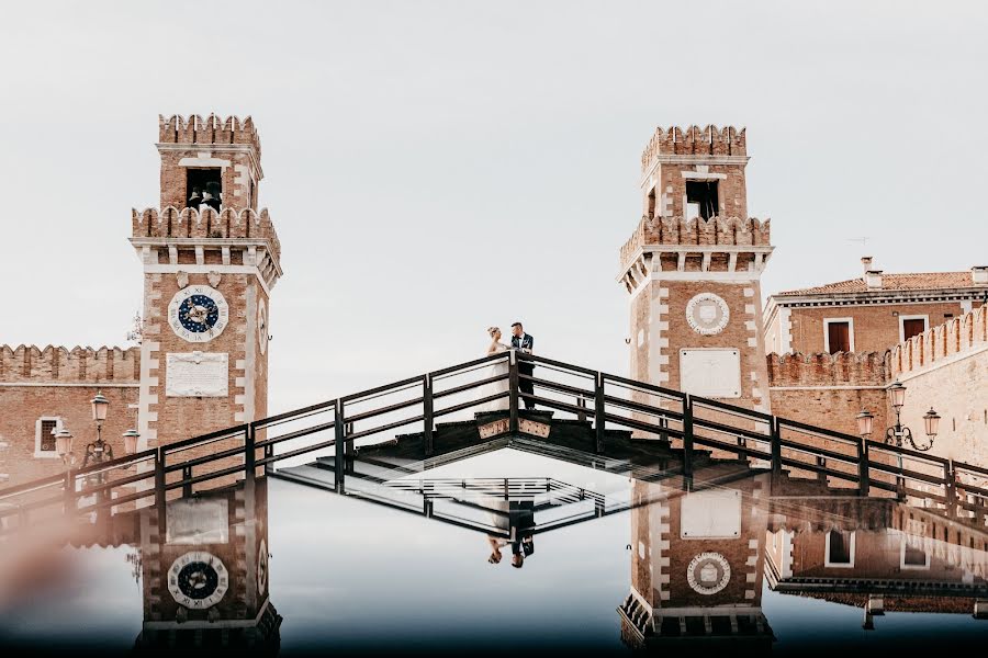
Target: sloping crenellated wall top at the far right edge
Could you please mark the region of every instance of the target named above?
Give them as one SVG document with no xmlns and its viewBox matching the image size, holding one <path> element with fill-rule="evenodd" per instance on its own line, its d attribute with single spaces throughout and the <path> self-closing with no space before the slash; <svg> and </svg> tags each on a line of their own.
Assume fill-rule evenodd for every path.
<svg viewBox="0 0 988 658">
<path fill-rule="evenodd" d="M 988 347 L 988 306 L 953 318 L 900 342 L 888 352 L 888 371 L 899 377 Z"/>
</svg>

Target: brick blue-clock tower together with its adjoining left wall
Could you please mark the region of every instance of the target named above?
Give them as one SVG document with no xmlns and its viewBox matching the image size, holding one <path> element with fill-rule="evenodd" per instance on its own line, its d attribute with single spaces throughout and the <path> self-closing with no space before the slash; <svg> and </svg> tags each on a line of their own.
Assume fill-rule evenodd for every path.
<svg viewBox="0 0 988 658">
<path fill-rule="evenodd" d="M 103 438 L 114 456 L 124 455 L 127 429 L 144 450 L 267 413 L 268 305 L 281 245 L 257 207 L 254 122 L 159 117 L 156 146 L 159 205 L 133 211 L 130 222 L 144 279 L 141 345 L 0 345 L 0 486 L 81 466 L 96 440 L 98 392 L 110 400 Z M 65 461 L 52 434 L 61 428 L 75 435 Z"/>
</svg>

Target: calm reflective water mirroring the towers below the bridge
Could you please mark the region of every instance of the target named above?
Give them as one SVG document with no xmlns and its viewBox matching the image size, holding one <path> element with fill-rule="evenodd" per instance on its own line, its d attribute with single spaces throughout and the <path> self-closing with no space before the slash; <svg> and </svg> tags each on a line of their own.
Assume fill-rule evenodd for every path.
<svg viewBox="0 0 988 658">
<path fill-rule="evenodd" d="M 531 468 L 543 465 L 535 461 Z M 583 478 L 569 483 L 577 488 L 603 490 L 608 501 L 598 512 L 606 514 L 594 518 L 586 500 L 557 499 L 539 508 L 535 551 L 521 568 L 510 564 L 510 543 L 501 548 L 499 564 L 491 564 L 491 541 L 478 527 L 292 481 L 262 480 L 255 509 L 243 518 L 236 511 L 243 487 L 216 500 L 206 496 L 212 507 L 177 508 L 169 518 L 173 542 L 154 536 L 146 524 L 134 545 L 38 551 L 22 559 L 24 568 L 5 568 L 0 642 L 38 653 L 125 654 L 138 639 L 145 649 L 202 642 L 221 651 L 224 625 L 280 617 L 280 626 L 266 632 L 267 644 L 255 647 L 281 655 L 600 655 L 628 654 L 632 646 L 665 655 L 720 655 L 725 646 L 732 654 L 752 646 L 753 653 L 776 655 L 844 648 L 913 655 L 988 643 L 988 620 L 973 615 L 974 600 L 988 599 L 984 529 L 894 502 L 867 509 L 838 499 L 773 503 L 757 478 L 684 496 L 677 486 L 584 470 L 564 475 Z M 403 496 L 394 499 L 422 509 L 420 498 Z M 532 497 L 513 500 L 512 511 Z M 621 509 L 632 501 L 638 507 Z M 447 500 L 434 504 L 434 513 L 456 513 L 465 525 L 510 532 L 519 518 L 530 520 L 492 515 L 487 509 L 504 511 L 510 503 L 489 496 L 473 496 L 460 510 Z M 217 510 L 233 523 L 204 529 Z M 186 517 L 195 520 L 184 523 Z M 498 525 L 499 518 L 510 521 Z M 539 532 L 561 519 L 584 520 Z M 945 542 L 938 538 L 944 527 Z M 195 540 L 194 532 L 204 530 L 218 534 Z M 267 568 L 257 564 L 261 549 L 249 548 L 261 540 L 270 554 Z M 218 588 L 218 600 L 209 577 L 198 580 L 192 567 L 181 576 L 181 565 L 175 566 L 189 554 L 193 563 L 204 555 L 222 563 L 226 591 Z M 9 547 L 5 555 L 9 566 Z M 183 592 L 212 592 L 197 605 L 214 603 L 213 610 L 193 609 L 176 623 Z M 866 631 L 868 595 L 880 597 L 886 612 Z M 675 619 L 652 626 L 642 617 L 645 632 L 638 634 L 633 624 L 622 625 L 622 604 L 630 616 L 650 609 L 649 620 Z M 732 614 L 760 619 L 762 627 L 739 633 Z M 198 627 L 204 627 L 199 640 L 175 633 Z M 243 632 L 237 626 L 233 633 Z M 195 631 L 189 633 L 194 637 Z M 741 644 L 745 638 L 753 644 Z"/>
</svg>

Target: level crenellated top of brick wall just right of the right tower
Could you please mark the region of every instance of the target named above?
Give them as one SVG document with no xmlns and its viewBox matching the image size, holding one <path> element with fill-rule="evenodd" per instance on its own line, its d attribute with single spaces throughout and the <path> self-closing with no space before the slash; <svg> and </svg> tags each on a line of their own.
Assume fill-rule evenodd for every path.
<svg viewBox="0 0 988 658">
<path fill-rule="evenodd" d="M 777 387 L 885 386 L 888 370 L 880 352 L 768 354 L 768 385 Z"/>
</svg>

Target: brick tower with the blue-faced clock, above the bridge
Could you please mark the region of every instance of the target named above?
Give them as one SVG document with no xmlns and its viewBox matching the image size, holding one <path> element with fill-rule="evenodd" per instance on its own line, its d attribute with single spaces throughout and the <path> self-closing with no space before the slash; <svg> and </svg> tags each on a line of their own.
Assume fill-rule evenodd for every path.
<svg viewBox="0 0 988 658">
<path fill-rule="evenodd" d="M 144 266 L 142 447 L 265 417 L 281 275 L 250 117 L 159 117 L 157 147 L 160 209 L 134 211 L 131 238 Z"/>
</svg>

